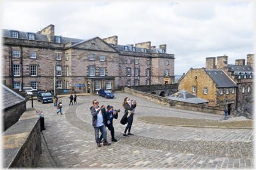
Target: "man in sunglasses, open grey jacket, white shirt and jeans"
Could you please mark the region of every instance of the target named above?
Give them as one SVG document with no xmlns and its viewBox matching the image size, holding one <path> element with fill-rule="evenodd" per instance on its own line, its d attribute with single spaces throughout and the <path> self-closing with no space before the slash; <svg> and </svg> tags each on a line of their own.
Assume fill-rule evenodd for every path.
<svg viewBox="0 0 256 170">
<path fill-rule="evenodd" d="M 100 138 L 99 138 L 99 130 L 100 132 L 103 134 L 103 146 L 105 145 L 111 145 L 111 143 L 107 142 L 107 129 L 105 128 L 104 125 L 104 118 L 103 115 L 105 114 L 105 106 L 103 106 L 103 108 L 101 108 L 101 106 L 98 106 L 98 101 L 97 100 L 93 100 L 92 104 L 94 106 L 92 106 L 90 108 L 91 110 L 91 115 L 92 115 L 92 126 L 94 127 L 94 131 L 95 131 L 95 142 L 97 143 L 97 146 L 100 147 Z"/>
</svg>

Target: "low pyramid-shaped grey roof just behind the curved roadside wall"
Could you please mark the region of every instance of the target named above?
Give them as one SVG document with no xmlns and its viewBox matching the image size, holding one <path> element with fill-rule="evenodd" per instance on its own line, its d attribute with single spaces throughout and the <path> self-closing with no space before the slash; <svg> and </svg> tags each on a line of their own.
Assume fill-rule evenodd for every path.
<svg viewBox="0 0 256 170">
<path fill-rule="evenodd" d="M 167 97 L 167 99 L 171 100 L 178 100 L 181 102 L 188 102 L 188 103 L 208 103 L 207 100 L 201 99 L 200 97 L 197 97 L 194 94 L 188 93 L 185 89 L 178 91 L 178 97 L 175 97 L 175 94 L 172 94 L 171 96 Z"/>
</svg>

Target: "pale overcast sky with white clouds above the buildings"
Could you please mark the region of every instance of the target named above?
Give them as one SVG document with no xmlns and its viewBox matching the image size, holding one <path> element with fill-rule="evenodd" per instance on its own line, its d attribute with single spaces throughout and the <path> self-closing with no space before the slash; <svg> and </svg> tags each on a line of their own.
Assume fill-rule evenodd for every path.
<svg viewBox="0 0 256 170">
<path fill-rule="evenodd" d="M 180 1 L 178 1 L 180 2 Z M 119 37 L 121 45 L 151 41 L 175 55 L 175 74 L 205 67 L 206 57 L 228 55 L 228 64 L 253 51 L 252 2 L 3 2 L 2 28 L 88 39 Z M 40 19 L 41 18 L 41 19 Z"/>
</svg>

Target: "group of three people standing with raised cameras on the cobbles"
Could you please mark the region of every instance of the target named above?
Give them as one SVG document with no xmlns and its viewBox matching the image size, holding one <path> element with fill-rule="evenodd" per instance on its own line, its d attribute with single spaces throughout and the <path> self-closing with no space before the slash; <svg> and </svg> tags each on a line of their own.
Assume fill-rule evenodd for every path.
<svg viewBox="0 0 256 170">
<path fill-rule="evenodd" d="M 99 106 L 99 102 L 97 100 L 92 101 L 93 106 L 90 108 L 92 115 L 92 126 L 95 131 L 95 142 L 97 146 L 100 147 L 103 142 L 103 146 L 111 145 L 111 143 L 107 142 L 107 129 L 110 130 L 111 133 L 111 141 L 117 142 L 117 139 L 114 138 L 114 126 L 113 119 L 117 119 L 118 111 L 114 110 L 113 106 L 107 106 L 107 111 L 105 110 L 105 106 Z M 128 97 L 124 98 L 123 107 L 125 109 L 124 116 L 121 118 L 120 123 L 127 126 L 124 130 L 123 136 L 129 137 L 130 135 L 134 135 L 130 133 L 133 123 L 133 115 L 135 114 L 136 101 L 131 101 Z M 128 130 L 128 133 L 126 133 Z M 99 138 L 99 131 L 101 132 L 101 136 Z"/>
</svg>

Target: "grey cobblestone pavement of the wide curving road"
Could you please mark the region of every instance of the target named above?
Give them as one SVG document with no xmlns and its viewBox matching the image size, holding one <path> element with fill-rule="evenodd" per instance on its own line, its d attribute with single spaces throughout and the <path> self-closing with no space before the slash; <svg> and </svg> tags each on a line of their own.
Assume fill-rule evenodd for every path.
<svg viewBox="0 0 256 170">
<path fill-rule="evenodd" d="M 52 103 L 34 103 L 43 110 L 46 130 L 43 135 L 49 152 L 63 168 L 253 168 L 253 130 L 188 128 L 153 125 L 133 120 L 135 136 L 123 138 L 126 126 L 120 119 L 124 97 L 136 99 L 135 117 L 171 116 L 190 119 L 219 120 L 223 116 L 187 110 L 170 109 L 161 104 L 116 93 L 114 99 L 98 96 L 78 96 L 78 105 L 68 106 L 68 97 L 62 97 L 64 115 L 57 115 Z M 89 107 L 92 100 L 114 109 L 120 109 L 114 120 L 115 136 L 119 142 L 98 148 L 94 141 Z M 108 130 L 108 142 L 111 141 Z M 41 165 L 45 164 L 43 161 Z M 44 166 L 41 166 L 44 167 Z M 46 167 L 46 166 L 45 166 Z M 46 167 L 47 168 L 47 167 Z"/>
</svg>

